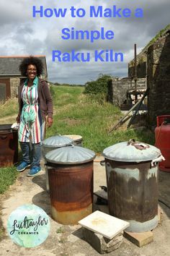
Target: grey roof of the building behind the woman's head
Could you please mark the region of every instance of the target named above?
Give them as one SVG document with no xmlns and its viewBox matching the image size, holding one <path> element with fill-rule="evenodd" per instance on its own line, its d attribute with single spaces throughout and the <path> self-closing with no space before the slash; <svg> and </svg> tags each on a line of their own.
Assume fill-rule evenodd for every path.
<svg viewBox="0 0 170 256">
<path fill-rule="evenodd" d="M 43 76 L 47 77 L 47 64 L 45 56 L 35 55 L 40 58 L 43 64 Z M 28 56 L 0 56 L 0 77 L 21 76 L 19 64 Z"/>
</svg>

